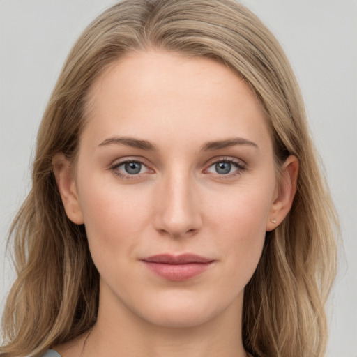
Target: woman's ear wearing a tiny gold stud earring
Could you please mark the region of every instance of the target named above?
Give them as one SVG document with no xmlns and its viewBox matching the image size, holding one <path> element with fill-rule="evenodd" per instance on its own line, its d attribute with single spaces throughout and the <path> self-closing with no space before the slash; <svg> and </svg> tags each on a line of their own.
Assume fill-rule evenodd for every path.
<svg viewBox="0 0 357 357">
<path fill-rule="evenodd" d="M 298 159 L 290 155 L 284 162 L 274 201 L 266 221 L 266 231 L 272 231 L 284 220 L 293 204 L 298 180 Z"/>
</svg>

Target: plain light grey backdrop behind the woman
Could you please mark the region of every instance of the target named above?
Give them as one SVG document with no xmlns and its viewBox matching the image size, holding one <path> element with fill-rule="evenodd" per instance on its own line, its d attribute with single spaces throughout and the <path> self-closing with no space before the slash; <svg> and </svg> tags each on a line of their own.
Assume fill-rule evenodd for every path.
<svg viewBox="0 0 357 357">
<path fill-rule="evenodd" d="M 208 0 L 209 1 L 209 0 Z M 0 308 L 14 278 L 6 232 L 29 190 L 36 131 L 70 47 L 115 1 L 0 0 Z M 357 1 L 245 0 L 301 84 L 342 223 L 328 356 L 357 357 Z"/>
</svg>

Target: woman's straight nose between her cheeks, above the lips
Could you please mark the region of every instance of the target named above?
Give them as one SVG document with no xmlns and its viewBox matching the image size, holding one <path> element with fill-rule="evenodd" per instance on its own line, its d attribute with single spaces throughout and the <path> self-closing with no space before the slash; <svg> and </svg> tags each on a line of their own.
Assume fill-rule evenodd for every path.
<svg viewBox="0 0 357 357">
<path fill-rule="evenodd" d="M 202 227 L 195 183 L 182 174 L 162 179 L 156 195 L 155 229 L 172 238 L 197 234 Z"/>
</svg>

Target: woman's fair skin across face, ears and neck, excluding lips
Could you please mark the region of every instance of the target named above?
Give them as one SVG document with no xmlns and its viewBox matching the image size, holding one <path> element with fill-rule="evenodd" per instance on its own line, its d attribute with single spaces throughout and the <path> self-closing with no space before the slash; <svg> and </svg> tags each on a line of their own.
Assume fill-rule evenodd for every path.
<svg viewBox="0 0 357 357">
<path fill-rule="evenodd" d="M 54 166 L 68 218 L 86 227 L 100 307 L 85 346 L 83 335 L 56 350 L 63 357 L 246 356 L 244 287 L 266 231 L 291 208 L 296 158 L 278 181 L 259 102 L 211 59 L 130 54 L 93 84 L 89 107 L 76 171 L 61 154 Z M 226 145 L 204 148 L 218 141 Z M 129 159 L 142 162 L 139 174 L 126 172 Z M 140 260 L 188 252 L 213 264 L 183 282 Z"/>
</svg>

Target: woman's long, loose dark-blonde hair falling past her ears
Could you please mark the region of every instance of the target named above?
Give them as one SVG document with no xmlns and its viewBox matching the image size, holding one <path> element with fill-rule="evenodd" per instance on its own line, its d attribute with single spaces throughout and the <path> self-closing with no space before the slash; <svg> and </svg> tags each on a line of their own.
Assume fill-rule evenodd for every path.
<svg viewBox="0 0 357 357">
<path fill-rule="evenodd" d="M 298 158 L 294 204 L 266 234 L 245 287 L 243 344 L 260 357 L 323 356 L 337 218 L 294 73 L 270 31 L 233 0 L 124 0 L 75 43 L 38 132 L 31 191 L 10 229 L 17 279 L 3 313 L 0 356 L 40 356 L 96 322 L 98 271 L 84 226 L 70 222 L 63 209 L 52 158 L 62 152 L 75 160 L 87 95 L 98 76 L 121 56 L 149 48 L 225 63 L 261 102 L 276 164 L 287 155 Z"/>
</svg>

